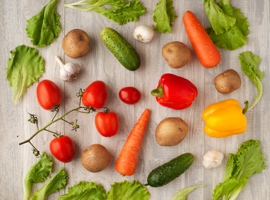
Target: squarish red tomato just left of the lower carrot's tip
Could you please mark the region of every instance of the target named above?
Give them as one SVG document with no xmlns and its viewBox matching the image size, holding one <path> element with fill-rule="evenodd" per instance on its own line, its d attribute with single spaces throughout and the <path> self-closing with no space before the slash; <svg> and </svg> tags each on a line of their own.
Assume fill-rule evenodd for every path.
<svg viewBox="0 0 270 200">
<path fill-rule="evenodd" d="M 95 116 L 95 125 L 100 135 L 104 137 L 114 136 L 119 126 L 118 115 L 115 112 L 99 112 Z"/>
</svg>

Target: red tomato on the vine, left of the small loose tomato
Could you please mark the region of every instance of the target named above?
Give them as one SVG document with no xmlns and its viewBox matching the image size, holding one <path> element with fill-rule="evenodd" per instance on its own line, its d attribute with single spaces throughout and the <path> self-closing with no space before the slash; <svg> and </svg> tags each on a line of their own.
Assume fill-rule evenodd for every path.
<svg viewBox="0 0 270 200">
<path fill-rule="evenodd" d="M 92 82 L 83 93 L 83 105 L 91 106 L 95 109 L 102 108 L 107 100 L 108 89 L 103 81 Z"/>
</svg>

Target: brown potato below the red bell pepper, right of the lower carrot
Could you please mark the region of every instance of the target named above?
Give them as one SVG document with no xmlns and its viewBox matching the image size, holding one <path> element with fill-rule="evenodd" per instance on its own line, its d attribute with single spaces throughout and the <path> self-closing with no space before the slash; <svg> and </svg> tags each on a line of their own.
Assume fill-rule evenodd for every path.
<svg viewBox="0 0 270 200">
<path fill-rule="evenodd" d="M 183 119 L 169 117 L 163 119 L 156 128 L 155 136 L 160 146 L 175 146 L 187 135 L 188 127 Z"/>
</svg>

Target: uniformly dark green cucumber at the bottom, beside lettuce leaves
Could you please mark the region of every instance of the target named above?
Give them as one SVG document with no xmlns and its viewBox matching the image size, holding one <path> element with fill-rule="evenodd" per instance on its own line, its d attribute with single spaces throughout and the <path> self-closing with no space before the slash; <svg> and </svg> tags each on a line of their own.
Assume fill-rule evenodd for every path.
<svg viewBox="0 0 270 200">
<path fill-rule="evenodd" d="M 191 153 L 184 153 L 173 158 L 150 172 L 147 177 L 148 185 L 151 187 L 166 185 L 183 174 L 192 165 L 193 160 L 194 157 Z"/>
</svg>

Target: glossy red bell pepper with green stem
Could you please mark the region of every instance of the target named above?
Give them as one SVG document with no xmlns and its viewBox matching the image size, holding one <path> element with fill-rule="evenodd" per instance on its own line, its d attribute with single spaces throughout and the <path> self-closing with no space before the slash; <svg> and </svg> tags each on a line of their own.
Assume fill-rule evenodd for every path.
<svg viewBox="0 0 270 200">
<path fill-rule="evenodd" d="M 163 74 L 156 89 L 151 91 L 157 102 L 167 108 L 188 108 L 198 95 L 196 86 L 189 80 L 174 74 Z"/>
</svg>

